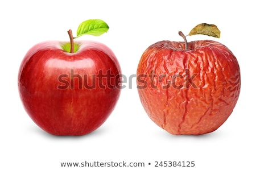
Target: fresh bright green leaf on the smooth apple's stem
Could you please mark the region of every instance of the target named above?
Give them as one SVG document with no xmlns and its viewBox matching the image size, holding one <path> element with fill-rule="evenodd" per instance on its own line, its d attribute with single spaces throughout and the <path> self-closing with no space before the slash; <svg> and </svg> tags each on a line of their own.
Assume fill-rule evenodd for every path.
<svg viewBox="0 0 256 170">
<path fill-rule="evenodd" d="M 108 32 L 108 30 L 109 26 L 103 20 L 89 19 L 79 25 L 76 32 L 76 38 L 85 34 L 100 36 L 101 34 Z"/>
</svg>

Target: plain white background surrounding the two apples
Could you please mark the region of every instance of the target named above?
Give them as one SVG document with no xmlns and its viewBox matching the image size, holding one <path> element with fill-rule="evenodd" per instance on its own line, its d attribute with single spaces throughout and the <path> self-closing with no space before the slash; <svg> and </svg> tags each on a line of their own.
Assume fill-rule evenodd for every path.
<svg viewBox="0 0 256 170">
<path fill-rule="evenodd" d="M 61 168 L 60 162 L 195 161 L 195 168 L 255 169 L 255 8 L 253 1 L 1 1 L 0 169 Z M 218 130 L 201 136 L 175 136 L 153 123 L 139 101 L 135 79 L 122 90 L 109 119 L 89 135 L 53 136 L 28 117 L 18 96 L 20 62 L 32 45 L 44 40 L 69 40 L 87 19 L 108 23 L 108 33 L 93 39 L 108 45 L 127 77 L 136 73 L 143 51 L 159 40 L 182 41 L 199 23 L 216 24 L 221 38 L 188 36 L 188 41 L 213 39 L 237 57 L 242 85 L 238 103 Z M 125 84 L 128 86 L 127 84 Z M 148 165 L 151 163 L 151 165 Z M 110 168 L 109 168 L 110 169 Z"/>
</svg>

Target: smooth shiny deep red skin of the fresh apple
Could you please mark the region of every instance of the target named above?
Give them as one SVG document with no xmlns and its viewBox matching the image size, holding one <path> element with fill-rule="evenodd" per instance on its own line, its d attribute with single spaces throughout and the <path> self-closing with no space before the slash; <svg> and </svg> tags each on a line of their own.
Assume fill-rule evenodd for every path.
<svg viewBox="0 0 256 170">
<path fill-rule="evenodd" d="M 31 119 L 49 134 L 89 134 L 106 121 L 118 101 L 121 68 L 102 43 L 75 42 L 80 45 L 75 53 L 61 49 L 64 43 L 42 42 L 27 52 L 18 73 L 19 96 Z M 94 77 L 96 86 L 85 88 L 84 75 L 92 85 L 92 75 L 100 72 L 101 80 Z"/>
</svg>

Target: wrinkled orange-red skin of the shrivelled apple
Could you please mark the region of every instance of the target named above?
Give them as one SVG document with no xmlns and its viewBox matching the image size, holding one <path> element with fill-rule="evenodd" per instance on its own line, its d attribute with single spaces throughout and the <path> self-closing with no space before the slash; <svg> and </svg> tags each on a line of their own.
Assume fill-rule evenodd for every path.
<svg viewBox="0 0 256 170">
<path fill-rule="evenodd" d="M 187 51 L 184 46 L 167 40 L 144 51 L 137 69 L 139 97 L 148 116 L 167 132 L 207 134 L 228 119 L 238 101 L 240 67 L 221 43 L 190 42 Z"/>
</svg>

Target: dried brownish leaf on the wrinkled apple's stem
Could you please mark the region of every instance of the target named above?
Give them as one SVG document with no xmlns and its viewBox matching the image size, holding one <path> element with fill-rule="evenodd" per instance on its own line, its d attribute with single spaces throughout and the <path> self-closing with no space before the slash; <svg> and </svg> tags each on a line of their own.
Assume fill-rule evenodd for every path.
<svg viewBox="0 0 256 170">
<path fill-rule="evenodd" d="M 188 35 L 203 34 L 220 38 L 220 30 L 214 24 L 201 23 L 194 27 Z"/>
</svg>

